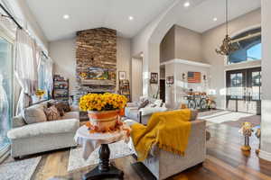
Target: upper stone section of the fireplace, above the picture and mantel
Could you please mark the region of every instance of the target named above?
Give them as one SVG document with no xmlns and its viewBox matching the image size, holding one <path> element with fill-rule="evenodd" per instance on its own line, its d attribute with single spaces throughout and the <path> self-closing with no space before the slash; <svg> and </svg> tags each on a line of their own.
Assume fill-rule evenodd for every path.
<svg viewBox="0 0 271 180">
<path fill-rule="evenodd" d="M 117 31 L 97 28 L 78 31 L 77 67 L 117 68 Z"/>
</svg>

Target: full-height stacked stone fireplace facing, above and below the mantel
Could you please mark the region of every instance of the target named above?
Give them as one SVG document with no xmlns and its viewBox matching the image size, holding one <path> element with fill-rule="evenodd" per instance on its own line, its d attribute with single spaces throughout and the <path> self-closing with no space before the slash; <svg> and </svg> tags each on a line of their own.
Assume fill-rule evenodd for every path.
<svg viewBox="0 0 271 180">
<path fill-rule="evenodd" d="M 112 91 L 116 88 L 116 77 L 111 79 L 115 85 L 80 85 L 79 74 L 88 72 L 89 67 L 104 67 L 117 73 L 117 31 L 97 28 L 78 31 L 76 38 L 76 73 L 78 96 L 89 92 Z"/>
</svg>

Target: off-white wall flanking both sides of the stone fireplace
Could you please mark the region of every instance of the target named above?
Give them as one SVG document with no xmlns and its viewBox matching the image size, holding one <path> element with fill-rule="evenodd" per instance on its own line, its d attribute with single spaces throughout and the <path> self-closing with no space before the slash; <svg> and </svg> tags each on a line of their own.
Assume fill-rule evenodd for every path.
<svg viewBox="0 0 271 180">
<path fill-rule="evenodd" d="M 76 85 L 76 40 L 51 41 L 49 55 L 54 60 L 54 72 L 70 79 L 70 93 Z M 126 71 L 130 80 L 131 48 L 130 40 L 117 37 L 117 76 L 118 71 Z M 118 85 L 118 81 L 117 81 Z M 117 87 L 118 88 L 118 87 Z"/>
</svg>

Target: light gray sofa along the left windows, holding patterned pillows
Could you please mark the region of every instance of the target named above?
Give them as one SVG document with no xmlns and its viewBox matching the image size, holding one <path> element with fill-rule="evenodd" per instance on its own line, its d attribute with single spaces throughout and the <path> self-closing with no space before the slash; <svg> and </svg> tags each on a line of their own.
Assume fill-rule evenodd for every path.
<svg viewBox="0 0 271 180">
<path fill-rule="evenodd" d="M 47 106 L 47 103 L 38 103 L 29 108 L 42 109 Z M 75 147 L 77 143 L 73 137 L 78 129 L 79 112 L 65 112 L 58 121 L 30 124 L 25 122 L 23 115 L 18 115 L 13 118 L 13 129 L 7 133 L 7 137 L 11 140 L 11 155 L 23 157 L 53 149 Z"/>
</svg>

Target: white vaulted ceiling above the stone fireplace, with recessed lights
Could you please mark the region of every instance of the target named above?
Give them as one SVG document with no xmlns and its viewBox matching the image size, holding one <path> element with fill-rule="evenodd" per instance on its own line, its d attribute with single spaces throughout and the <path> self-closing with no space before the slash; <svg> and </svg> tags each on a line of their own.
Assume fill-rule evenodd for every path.
<svg viewBox="0 0 271 180">
<path fill-rule="evenodd" d="M 26 0 L 48 40 L 61 40 L 76 31 L 107 27 L 133 37 L 174 0 Z M 70 19 L 64 20 L 63 14 Z M 128 17 L 135 19 L 129 21 Z"/>
</svg>

